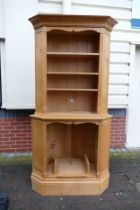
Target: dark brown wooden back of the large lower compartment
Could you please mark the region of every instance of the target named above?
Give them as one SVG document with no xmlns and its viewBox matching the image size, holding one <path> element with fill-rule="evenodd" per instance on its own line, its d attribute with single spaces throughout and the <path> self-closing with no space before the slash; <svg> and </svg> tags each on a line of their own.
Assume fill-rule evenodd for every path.
<svg viewBox="0 0 140 210">
<path fill-rule="evenodd" d="M 96 166 L 98 126 L 91 123 L 65 125 L 53 123 L 48 126 L 48 160 L 54 158 L 84 158 L 87 154 Z"/>
</svg>

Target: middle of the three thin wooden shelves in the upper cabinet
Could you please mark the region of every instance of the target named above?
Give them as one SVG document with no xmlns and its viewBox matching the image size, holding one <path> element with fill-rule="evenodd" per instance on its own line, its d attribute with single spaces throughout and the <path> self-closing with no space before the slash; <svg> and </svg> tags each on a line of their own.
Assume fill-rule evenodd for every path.
<svg viewBox="0 0 140 210">
<path fill-rule="evenodd" d="M 95 76 L 99 75 L 98 72 L 47 72 L 48 75 L 60 75 L 60 76 L 71 76 L 71 75 L 79 75 L 79 76 Z"/>
</svg>

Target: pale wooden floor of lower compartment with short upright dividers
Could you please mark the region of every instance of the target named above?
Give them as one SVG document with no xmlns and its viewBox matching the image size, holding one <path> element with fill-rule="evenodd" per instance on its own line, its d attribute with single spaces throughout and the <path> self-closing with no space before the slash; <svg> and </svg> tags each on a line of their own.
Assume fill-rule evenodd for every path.
<svg viewBox="0 0 140 210">
<path fill-rule="evenodd" d="M 96 177 L 93 164 L 82 158 L 55 158 L 48 164 L 48 177 Z"/>
</svg>

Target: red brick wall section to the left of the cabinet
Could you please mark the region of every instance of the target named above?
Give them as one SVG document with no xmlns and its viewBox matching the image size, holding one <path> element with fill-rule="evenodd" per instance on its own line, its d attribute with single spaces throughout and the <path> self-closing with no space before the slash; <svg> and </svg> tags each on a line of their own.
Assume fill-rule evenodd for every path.
<svg viewBox="0 0 140 210">
<path fill-rule="evenodd" d="M 0 152 L 31 151 L 31 121 L 34 111 L 0 110 Z"/>
</svg>

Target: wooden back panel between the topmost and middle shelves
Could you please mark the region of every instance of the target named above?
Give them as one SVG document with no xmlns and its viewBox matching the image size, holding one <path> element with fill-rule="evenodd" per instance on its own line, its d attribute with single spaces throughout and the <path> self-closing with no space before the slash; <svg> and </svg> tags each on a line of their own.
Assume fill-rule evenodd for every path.
<svg viewBox="0 0 140 210">
<path fill-rule="evenodd" d="M 98 72 L 98 57 L 50 57 L 48 72 Z"/>
</svg>

